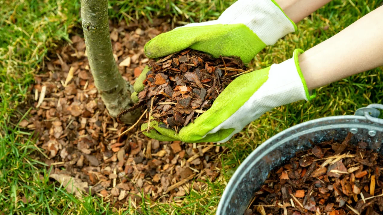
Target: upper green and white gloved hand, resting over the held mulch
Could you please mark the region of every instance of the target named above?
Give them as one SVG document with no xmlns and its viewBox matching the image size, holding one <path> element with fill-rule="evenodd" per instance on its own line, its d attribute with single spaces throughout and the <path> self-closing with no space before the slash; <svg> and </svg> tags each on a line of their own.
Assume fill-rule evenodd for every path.
<svg viewBox="0 0 383 215">
<path fill-rule="evenodd" d="M 274 0 L 238 0 L 218 20 L 191 23 L 162 33 L 145 45 L 149 58 L 190 47 L 213 57 L 239 56 L 249 63 L 267 45 L 294 32 L 296 25 Z"/>
</svg>

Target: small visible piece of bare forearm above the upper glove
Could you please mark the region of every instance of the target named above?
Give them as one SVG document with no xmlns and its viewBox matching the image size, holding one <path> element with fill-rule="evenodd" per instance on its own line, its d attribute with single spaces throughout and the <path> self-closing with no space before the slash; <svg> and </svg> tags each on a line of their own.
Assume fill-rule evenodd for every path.
<svg viewBox="0 0 383 215">
<path fill-rule="evenodd" d="M 331 0 L 276 0 L 286 15 L 297 23 Z"/>
</svg>

